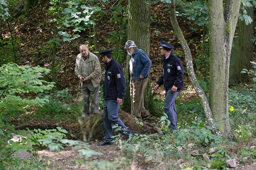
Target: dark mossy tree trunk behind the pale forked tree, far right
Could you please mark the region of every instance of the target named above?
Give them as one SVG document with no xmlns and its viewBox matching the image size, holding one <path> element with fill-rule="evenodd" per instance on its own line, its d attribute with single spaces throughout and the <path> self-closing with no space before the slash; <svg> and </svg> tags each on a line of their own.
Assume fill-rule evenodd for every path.
<svg viewBox="0 0 256 170">
<path fill-rule="evenodd" d="M 254 19 L 253 7 L 247 7 L 247 14 Z M 242 11 L 240 10 L 240 13 Z M 248 81 L 248 74 L 241 74 L 243 68 L 251 67 L 250 61 L 253 58 L 253 22 L 249 25 L 245 21 L 238 20 L 235 37 L 233 40 L 229 68 L 229 85 Z"/>
</svg>

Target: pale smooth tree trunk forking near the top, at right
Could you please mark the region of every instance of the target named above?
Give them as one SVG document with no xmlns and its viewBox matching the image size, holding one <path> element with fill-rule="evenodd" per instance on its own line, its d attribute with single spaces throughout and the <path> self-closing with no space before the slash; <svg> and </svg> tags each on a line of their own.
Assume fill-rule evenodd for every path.
<svg viewBox="0 0 256 170">
<path fill-rule="evenodd" d="M 209 0 L 210 107 L 219 130 L 231 139 L 228 108 L 229 62 L 240 0 Z M 224 15 L 223 15 L 224 14 Z"/>
</svg>

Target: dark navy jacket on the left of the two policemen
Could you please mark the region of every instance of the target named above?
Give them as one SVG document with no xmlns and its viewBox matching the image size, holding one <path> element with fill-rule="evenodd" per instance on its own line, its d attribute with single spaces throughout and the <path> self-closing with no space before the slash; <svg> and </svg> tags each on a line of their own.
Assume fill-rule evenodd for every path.
<svg viewBox="0 0 256 170">
<path fill-rule="evenodd" d="M 105 78 L 103 83 L 103 98 L 124 99 L 125 79 L 122 66 L 112 58 L 105 66 Z"/>
</svg>

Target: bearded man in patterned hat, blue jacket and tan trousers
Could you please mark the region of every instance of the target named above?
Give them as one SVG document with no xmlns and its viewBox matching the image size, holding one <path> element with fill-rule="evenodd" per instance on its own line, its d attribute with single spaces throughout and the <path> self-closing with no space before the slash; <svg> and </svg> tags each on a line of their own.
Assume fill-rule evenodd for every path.
<svg viewBox="0 0 256 170">
<path fill-rule="evenodd" d="M 131 56 L 129 62 L 131 115 L 142 120 L 150 116 L 144 107 L 144 91 L 148 83 L 151 61 L 146 52 L 137 48 L 133 40 L 127 40 L 125 49 Z"/>
</svg>

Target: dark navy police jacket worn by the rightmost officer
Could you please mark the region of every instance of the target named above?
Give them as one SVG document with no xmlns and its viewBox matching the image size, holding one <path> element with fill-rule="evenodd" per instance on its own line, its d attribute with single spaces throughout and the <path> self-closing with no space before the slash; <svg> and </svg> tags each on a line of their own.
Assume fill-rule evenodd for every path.
<svg viewBox="0 0 256 170">
<path fill-rule="evenodd" d="M 158 80 L 158 85 L 164 84 L 165 90 L 171 89 L 172 86 L 178 87 L 178 90 L 184 89 L 184 71 L 182 61 L 172 53 L 165 59 L 162 58 L 162 76 Z"/>
</svg>

